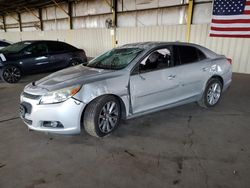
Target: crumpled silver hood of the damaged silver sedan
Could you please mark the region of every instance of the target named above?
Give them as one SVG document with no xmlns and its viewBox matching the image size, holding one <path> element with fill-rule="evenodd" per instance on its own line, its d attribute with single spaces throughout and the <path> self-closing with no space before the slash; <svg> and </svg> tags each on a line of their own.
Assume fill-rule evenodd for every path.
<svg viewBox="0 0 250 188">
<path fill-rule="evenodd" d="M 25 87 L 24 91 L 35 95 L 43 95 L 49 91 L 104 80 L 119 75 L 119 71 L 115 70 L 95 69 L 78 65 L 63 69 L 36 82 L 32 82 Z"/>
</svg>

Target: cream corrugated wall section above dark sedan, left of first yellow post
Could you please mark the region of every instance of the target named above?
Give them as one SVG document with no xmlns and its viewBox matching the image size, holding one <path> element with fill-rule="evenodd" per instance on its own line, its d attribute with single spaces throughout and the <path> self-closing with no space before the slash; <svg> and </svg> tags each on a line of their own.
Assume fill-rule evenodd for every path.
<svg viewBox="0 0 250 188">
<path fill-rule="evenodd" d="M 94 57 L 112 48 L 112 37 L 108 29 L 79 29 L 57 31 L 24 31 L 0 33 L 0 39 L 12 42 L 20 40 L 59 40 L 84 49 Z"/>
</svg>

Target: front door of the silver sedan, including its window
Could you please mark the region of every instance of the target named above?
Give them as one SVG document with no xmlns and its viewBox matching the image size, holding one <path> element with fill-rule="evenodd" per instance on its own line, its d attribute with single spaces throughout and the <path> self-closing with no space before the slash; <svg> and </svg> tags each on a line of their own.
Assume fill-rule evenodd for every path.
<svg viewBox="0 0 250 188">
<path fill-rule="evenodd" d="M 133 113 L 178 100 L 179 82 L 172 66 L 170 47 L 155 50 L 138 64 L 130 76 Z"/>
</svg>

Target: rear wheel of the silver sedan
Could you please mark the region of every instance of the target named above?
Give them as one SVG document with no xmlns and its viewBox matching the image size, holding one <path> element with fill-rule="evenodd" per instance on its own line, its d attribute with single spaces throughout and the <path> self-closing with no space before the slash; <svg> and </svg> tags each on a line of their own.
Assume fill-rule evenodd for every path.
<svg viewBox="0 0 250 188">
<path fill-rule="evenodd" d="M 211 78 L 206 86 L 202 98 L 198 101 L 201 107 L 213 107 L 220 101 L 222 93 L 222 83 L 217 78 Z"/>
</svg>

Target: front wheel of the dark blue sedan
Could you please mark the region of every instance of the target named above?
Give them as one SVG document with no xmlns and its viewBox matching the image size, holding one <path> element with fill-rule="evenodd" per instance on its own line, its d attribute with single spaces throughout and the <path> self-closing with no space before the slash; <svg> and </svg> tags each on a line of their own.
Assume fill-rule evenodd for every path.
<svg viewBox="0 0 250 188">
<path fill-rule="evenodd" d="M 17 83 L 21 77 L 21 70 L 16 66 L 9 65 L 1 70 L 1 79 L 7 83 Z"/>
</svg>

